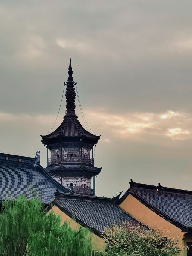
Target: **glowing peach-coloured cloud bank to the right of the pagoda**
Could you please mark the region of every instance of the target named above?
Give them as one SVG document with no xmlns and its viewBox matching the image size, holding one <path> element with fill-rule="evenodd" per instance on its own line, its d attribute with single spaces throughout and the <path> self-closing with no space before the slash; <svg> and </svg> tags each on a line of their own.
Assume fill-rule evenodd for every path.
<svg viewBox="0 0 192 256">
<path fill-rule="evenodd" d="M 192 115 L 168 110 L 165 113 L 127 113 L 125 116 L 114 116 L 107 113 L 87 112 L 90 118 L 102 123 L 102 129 L 122 139 L 126 137 L 145 138 L 155 135 L 173 140 L 192 138 Z M 95 121 L 96 121 L 95 120 Z"/>
</svg>

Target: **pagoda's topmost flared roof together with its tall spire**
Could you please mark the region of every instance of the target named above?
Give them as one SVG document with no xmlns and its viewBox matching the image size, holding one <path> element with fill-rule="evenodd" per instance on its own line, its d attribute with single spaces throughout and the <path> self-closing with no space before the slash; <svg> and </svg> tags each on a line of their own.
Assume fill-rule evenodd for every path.
<svg viewBox="0 0 192 256">
<path fill-rule="evenodd" d="M 48 145 L 54 143 L 53 140 L 62 139 L 62 138 L 86 138 L 92 141 L 92 144 L 97 144 L 100 136 L 91 134 L 90 132 L 86 131 L 85 128 L 82 127 L 77 116 L 75 114 L 75 88 L 76 82 L 73 81 L 73 69 L 71 67 L 71 58 L 69 63 L 69 70 L 68 70 L 68 80 L 64 82 L 66 86 L 66 115 L 64 116 L 64 120 L 61 125 L 52 133 L 48 135 L 41 135 L 42 143 Z"/>
</svg>

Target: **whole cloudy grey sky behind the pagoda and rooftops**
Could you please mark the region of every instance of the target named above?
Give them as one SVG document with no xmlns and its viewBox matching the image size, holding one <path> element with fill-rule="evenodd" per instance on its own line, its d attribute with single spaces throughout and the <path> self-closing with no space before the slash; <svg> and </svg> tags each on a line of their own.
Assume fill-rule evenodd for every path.
<svg viewBox="0 0 192 256">
<path fill-rule="evenodd" d="M 0 151 L 33 155 L 71 53 L 100 196 L 135 182 L 192 190 L 192 2 L 1 1 Z M 84 125 L 76 102 L 77 114 Z M 55 128 L 62 122 L 65 101 Z"/>
</svg>

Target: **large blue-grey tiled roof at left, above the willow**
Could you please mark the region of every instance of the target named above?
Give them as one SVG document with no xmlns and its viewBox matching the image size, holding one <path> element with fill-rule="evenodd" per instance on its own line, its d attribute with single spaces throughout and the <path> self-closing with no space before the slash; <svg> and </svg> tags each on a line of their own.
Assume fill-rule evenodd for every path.
<svg viewBox="0 0 192 256">
<path fill-rule="evenodd" d="M 42 203 L 49 204 L 56 189 L 73 193 L 56 182 L 37 158 L 0 153 L 0 200 L 16 199 L 20 194 L 32 199 L 37 193 Z"/>
</svg>

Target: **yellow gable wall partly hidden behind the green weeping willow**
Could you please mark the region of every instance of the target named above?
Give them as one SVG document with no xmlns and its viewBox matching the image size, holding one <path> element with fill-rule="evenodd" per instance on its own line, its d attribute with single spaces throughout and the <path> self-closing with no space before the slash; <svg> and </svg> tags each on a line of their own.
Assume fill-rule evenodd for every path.
<svg viewBox="0 0 192 256">
<path fill-rule="evenodd" d="M 78 229 L 80 227 L 79 223 L 77 223 L 72 218 L 70 218 L 67 214 L 62 212 L 57 206 L 54 205 L 50 209 L 50 211 L 54 211 L 55 214 L 61 215 L 61 219 L 62 219 L 61 225 L 63 225 L 65 221 L 68 221 L 70 223 L 70 227 L 72 229 Z M 47 214 L 49 214 L 49 212 Z M 104 240 L 101 237 L 96 236 L 95 234 L 93 234 L 93 236 L 92 236 L 92 245 L 93 245 L 94 250 L 104 251 L 104 249 L 105 249 Z"/>
</svg>

